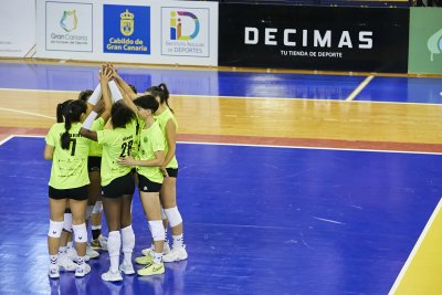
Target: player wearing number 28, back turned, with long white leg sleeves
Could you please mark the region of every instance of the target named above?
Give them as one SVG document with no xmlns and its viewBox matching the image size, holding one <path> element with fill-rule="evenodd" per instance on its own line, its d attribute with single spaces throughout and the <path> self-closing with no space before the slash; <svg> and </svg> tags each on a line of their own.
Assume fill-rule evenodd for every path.
<svg viewBox="0 0 442 295">
<path fill-rule="evenodd" d="M 103 71 L 103 70 L 102 70 Z M 107 71 L 104 70 L 104 71 Z M 110 267 L 102 274 L 104 281 L 122 281 L 122 270 L 125 274 L 134 274 L 131 253 L 135 246 L 135 234 L 131 228 L 131 199 L 135 190 L 130 175 L 130 167 L 117 164 L 118 158 L 130 155 L 135 129 L 130 128 L 131 122 L 136 119 L 134 112 L 114 95 L 116 85 L 109 82 L 109 89 L 115 102 L 110 110 L 110 129 L 91 130 L 92 122 L 97 116 L 91 113 L 83 124 L 80 134 L 97 141 L 103 146 L 102 155 L 102 188 L 103 207 L 108 226 L 107 249 L 110 257 Z M 120 232 L 122 231 L 122 232 Z M 124 262 L 119 265 L 119 251 L 122 249 Z"/>
</svg>

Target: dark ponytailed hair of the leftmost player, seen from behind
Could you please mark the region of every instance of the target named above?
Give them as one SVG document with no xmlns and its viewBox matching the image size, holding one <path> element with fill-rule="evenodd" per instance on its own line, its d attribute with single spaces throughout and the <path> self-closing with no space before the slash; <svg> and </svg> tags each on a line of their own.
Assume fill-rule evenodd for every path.
<svg viewBox="0 0 442 295">
<path fill-rule="evenodd" d="M 82 114 L 86 113 L 87 106 L 84 101 L 69 99 L 56 106 L 56 122 L 64 122 L 64 134 L 61 136 L 61 143 L 63 149 L 69 149 L 71 144 L 71 137 L 69 130 L 71 129 L 72 123 L 80 122 Z"/>
</svg>

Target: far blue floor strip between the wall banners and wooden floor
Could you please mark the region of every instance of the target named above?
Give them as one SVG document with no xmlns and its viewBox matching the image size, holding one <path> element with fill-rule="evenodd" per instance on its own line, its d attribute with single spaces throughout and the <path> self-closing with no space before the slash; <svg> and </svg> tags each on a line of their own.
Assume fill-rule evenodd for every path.
<svg viewBox="0 0 442 295">
<path fill-rule="evenodd" d="M 0 63 L 0 88 L 83 91 L 97 85 L 96 66 Z M 135 69 L 120 75 L 143 92 L 166 83 L 173 95 L 346 99 L 367 77 L 228 72 L 182 69 Z M 67 83 L 69 82 L 69 83 Z M 442 77 L 376 76 L 355 101 L 442 103 Z"/>
</svg>

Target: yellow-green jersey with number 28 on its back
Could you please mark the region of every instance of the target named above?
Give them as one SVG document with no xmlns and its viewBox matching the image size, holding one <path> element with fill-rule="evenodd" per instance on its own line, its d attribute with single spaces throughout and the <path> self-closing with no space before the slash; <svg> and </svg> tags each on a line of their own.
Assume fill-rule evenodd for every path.
<svg viewBox="0 0 442 295">
<path fill-rule="evenodd" d="M 128 126 L 128 125 L 127 125 Z M 104 129 L 97 131 L 98 144 L 103 146 L 102 186 L 130 172 L 130 166 L 118 165 L 118 158 L 130 156 L 136 134 L 134 128 Z"/>
</svg>

